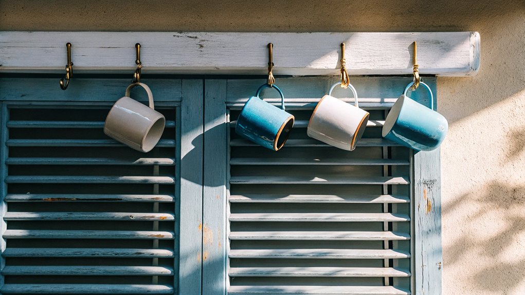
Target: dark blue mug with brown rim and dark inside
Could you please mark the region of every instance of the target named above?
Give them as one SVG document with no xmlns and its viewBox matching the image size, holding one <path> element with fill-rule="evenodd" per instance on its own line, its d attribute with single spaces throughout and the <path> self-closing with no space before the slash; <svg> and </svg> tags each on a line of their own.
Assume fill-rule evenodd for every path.
<svg viewBox="0 0 525 295">
<path fill-rule="evenodd" d="M 274 88 L 281 95 L 281 108 L 259 99 L 261 90 Z M 257 89 L 240 111 L 235 132 L 254 143 L 279 150 L 285 145 L 295 117 L 285 111 L 285 96 L 276 85 L 264 84 Z"/>
</svg>

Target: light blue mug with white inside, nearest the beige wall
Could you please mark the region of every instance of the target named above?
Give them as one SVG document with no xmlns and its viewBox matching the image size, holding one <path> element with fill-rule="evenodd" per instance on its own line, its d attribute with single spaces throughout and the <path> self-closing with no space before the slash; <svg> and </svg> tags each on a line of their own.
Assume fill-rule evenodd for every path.
<svg viewBox="0 0 525 295">
<path fill-rule="evenodd" d="M 386 116 L 382 135 L 386 139 L 415 150 L 434 150 L 447 135 L 447 119 L 433 110 L 434 96 L 427 84 L 419 82 L 419 85 L 423 85 L 430 93 L 430 108 L 406 96 L 412 85 L 414 82 L 406 86 L 403 95 L 392 106 Z"/>
</svg>

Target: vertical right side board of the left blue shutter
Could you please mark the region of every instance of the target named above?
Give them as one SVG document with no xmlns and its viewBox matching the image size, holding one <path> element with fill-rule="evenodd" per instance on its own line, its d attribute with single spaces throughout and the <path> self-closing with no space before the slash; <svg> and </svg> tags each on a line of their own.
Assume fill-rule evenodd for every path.
<svg viewBox="0 0 525 295">
<path fill-rule="evenodd" d="M 202 80 L 182 82 L 179 294 L 200 294 L 202 288 L 203 88 Z"/>
</svg>

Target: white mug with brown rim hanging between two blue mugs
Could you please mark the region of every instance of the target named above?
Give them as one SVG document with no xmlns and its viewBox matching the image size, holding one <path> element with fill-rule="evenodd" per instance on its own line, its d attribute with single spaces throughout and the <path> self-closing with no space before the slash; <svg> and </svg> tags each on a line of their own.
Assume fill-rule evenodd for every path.
<svg viewBox="0 0 525 295">
<path fill-rule="evenodd" d="M 308 122 L 307 134 L 331 146 L 354 150 L 364 133 L 370 113 L 359 108 L 358 94 L 352 84 L 348 84 L 348 88 L 354 94 L 354 105 L 333 97 L 333 89 L 340 84 L 333 84 L 328 94 L 317 103 Z"/>
</svg>

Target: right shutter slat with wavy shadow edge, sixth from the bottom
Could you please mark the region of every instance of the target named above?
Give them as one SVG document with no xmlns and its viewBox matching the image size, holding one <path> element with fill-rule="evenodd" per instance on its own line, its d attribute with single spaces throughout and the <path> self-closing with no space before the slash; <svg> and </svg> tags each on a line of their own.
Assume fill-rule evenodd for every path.
<svg viewBox="0 0 525 295">
<path fill-rule="evenodd" d="M 410 198 L 400 195 L 329 195 L 329 194 L 245 194 L 230 195 L 230 203 L 408 203 Z"/>
</svg>

